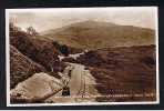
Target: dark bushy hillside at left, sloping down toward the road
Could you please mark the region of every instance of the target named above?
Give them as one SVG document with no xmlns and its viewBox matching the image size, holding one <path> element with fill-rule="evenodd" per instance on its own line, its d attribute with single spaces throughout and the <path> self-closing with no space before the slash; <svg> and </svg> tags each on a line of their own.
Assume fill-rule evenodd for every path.
<svg viewBox="0 0 164 111">
<path fill-rule="evenodd" d="M 28 36 L 27 33 L 19 31 L 10 37 L 10 43 L 28 58 L 44 65 L 48 71 L 60 70 L 60 62 L 58 59 L 60 51 L 49 39 Z"/>
</svg>

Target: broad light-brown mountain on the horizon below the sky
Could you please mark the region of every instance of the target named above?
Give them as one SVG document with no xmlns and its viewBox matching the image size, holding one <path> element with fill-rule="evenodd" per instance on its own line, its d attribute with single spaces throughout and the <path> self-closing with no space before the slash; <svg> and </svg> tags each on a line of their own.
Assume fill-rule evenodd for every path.
<svg viewBox="0 0 164 111">
<path fill-rule="evenodd" d="M 154 44 L 155 31 L 111 22 L 83 21 L 42 33 L 44 37 L 79 49 Z"/>
</svg>

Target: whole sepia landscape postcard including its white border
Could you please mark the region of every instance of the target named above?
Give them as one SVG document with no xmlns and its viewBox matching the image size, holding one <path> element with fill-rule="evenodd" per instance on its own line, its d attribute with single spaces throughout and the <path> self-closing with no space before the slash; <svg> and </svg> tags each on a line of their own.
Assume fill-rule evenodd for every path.
<svg viewBox="0 0 164 111">
<path fill-rule="evenodd" d="M 6 9 L 7 105 L 156 104 L 157 7 Z"/>
</svg>

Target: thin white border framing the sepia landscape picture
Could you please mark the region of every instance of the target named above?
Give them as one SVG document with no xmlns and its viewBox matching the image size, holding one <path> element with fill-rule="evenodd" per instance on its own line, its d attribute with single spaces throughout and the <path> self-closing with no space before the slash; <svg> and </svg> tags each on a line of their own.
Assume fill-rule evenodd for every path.
<svg viewBox="0 0 164 111">
<path fill-rule="evenodd" d="M 104 7 L 102 7 L 104 8 Z M 107 7 L 106 7 L 107 8 Z M 119 8 L 154 8 L 155 10 L 155 38 L 156 38 L 156 101 L 142 101 L 142 102 L 82 102 L 82 103 L 27 103 L 27 104 L 11 104 L 10 103 L 10 41 L 9 41 L 9 13 L 10 12 L 27 12 L 32 10 L 40 10 L 44 8 L 37 9 L 6 9 L 6 70 L 7 70 L 7 107 L 44 107 L 44 105 L 117 105 L 117 104 L 158 104 L 160 103 L 160 75 L 158 75 L 158 8 L 157 7 L 109 7 L 113 9 Z M 70 8 L 45 8 L 45 9 L 70 9 Z M 72 8 L 75 9 L 75 8 Z M 76 8 L 80 9 L 80 8 Z M 93 8 L 83 8 L 93 9 Z"/>
</svg>

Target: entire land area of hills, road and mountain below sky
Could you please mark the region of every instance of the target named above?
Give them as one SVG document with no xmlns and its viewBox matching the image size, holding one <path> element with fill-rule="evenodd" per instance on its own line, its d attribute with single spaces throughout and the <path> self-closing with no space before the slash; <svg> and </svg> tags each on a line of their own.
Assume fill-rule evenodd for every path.
<svg viewBox="0 0 164 111">
<path fill-rule="evenodd" d="M 11 103 L 156 100 L 152 29 L 84 21 L 10 43 Z"/>
</svg>

